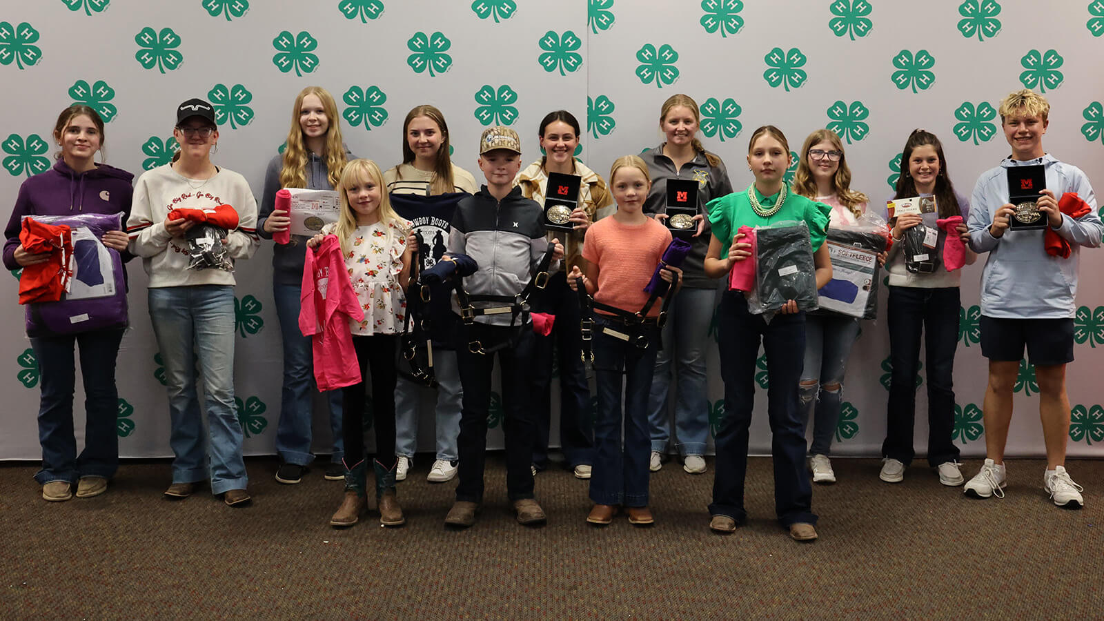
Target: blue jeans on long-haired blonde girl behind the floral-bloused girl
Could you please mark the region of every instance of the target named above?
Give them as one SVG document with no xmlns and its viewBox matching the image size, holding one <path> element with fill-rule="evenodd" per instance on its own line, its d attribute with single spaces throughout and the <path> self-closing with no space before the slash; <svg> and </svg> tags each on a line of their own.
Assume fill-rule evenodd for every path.
<svg viewBox="0 0 1104 621">
<path fill-rule="evenodd" d="M 284 340 L 284 386 L 280 389 L 279 425 L 276 428 L 276 453 L 287 463 L 307 465 L 314 461 L 310 452 L 314 419 L 315 364 L 311 338 L 299 330 L 301 285 L 273 283 L 276 316 Z M 325 393 L 330 409 L 330 431 L 333 449 L 330 461 L 341 463 L 344 442 L 341 438 L 341 391 Z"/>
</svg>

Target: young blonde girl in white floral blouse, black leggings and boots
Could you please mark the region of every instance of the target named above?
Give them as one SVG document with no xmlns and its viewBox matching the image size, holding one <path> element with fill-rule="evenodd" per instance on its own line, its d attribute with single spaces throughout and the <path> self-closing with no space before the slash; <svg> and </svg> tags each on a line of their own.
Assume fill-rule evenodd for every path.
<svg viewBox="0 0 1104 621">
<path fill-rule="evenodd" d="M 384 191 L 383 175 L 375 162 L 353 160 L 339 183 L 341 214 L 333 224 L 311 238 L 317 246 L 326 235 L 336 235 L 349 270 L 364 320 L 350 319 L 353 348 L 361 381 L 343 390 L 344 498 L 330 518 L 332 526 L 352 526 L 365 506 L 368 465 L 364 459 L 364 377 L 372 370 L 372 414 L 375 429 L 375 497 L 380 523 L 401 526 L 406 522 L 395 498 L 395 357 L 406 302 L 403 288 L 410 277 L 412 224 L 395 214 Z"/>
</svg>

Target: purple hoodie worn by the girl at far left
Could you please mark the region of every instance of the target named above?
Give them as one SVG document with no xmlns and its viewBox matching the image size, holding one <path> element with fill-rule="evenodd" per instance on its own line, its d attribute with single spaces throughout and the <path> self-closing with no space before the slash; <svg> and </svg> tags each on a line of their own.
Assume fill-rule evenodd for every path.
<svg viewBox="0 0 1104 621">
<path fill-rule="evenodd" d="M 135 176 L 108 166 L 97 164 L 96 168 L 76 172 L 59 159 L 50 170 L 35 175 L 19 188 L 15 209 L 4 229 L 3 264 L 9 270 L 18 270 L 15 249 L 19 248 L 19 231 L 24 215 L 70 215 L 74 213 L 118 213 L 124 212 L 123 222 L 130 217 L 130 199 L 134 196 L 131 181 Z M 134 259 L 129 252 L 120 252 L 123 262 Z M 125 272 L 124 272 L 125 273 Z"/>
</svg>

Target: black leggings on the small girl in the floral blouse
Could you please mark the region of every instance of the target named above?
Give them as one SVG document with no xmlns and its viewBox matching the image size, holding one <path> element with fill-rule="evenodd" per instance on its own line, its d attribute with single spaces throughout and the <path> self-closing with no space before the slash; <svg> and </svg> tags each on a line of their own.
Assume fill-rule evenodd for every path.
<svg viewBox="0 0 1104 621">
<path fill-rule="evenodd" d="M 375 460 L 392 470 L 395 466 L 395 355 L 399 351 L 399 335 L 354 335 L 352 346 L 360 365 L 360 383 L 341 389 L 344 397 L 341 414 L 344 462 L 353 466 L 364 459 L 364 378 L 371 368 Z"/>
</svg>

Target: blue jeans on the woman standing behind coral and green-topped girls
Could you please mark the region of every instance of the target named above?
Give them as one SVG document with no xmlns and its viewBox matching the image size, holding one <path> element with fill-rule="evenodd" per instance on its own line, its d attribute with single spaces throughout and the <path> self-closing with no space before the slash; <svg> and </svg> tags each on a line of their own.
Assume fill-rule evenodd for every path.
<svg viewBox="0 0 1104 621">
<path fill-rule="evenodd" d="M 709 435 L 709 396 L 705 386 L 705 350 L 709 325 L 716 308 L 715 288 L 683 288 L 671 303 L 664 327 L 664 350 L 656 356 L 655 377 L 648 394 L 651 450 L 667 452 L 670 438 L 667 393 L 671 386 L 671 359 L 678 378 L 675 406 L 675 439 L 679 453 L 705 453 Z"/>
</svg>

